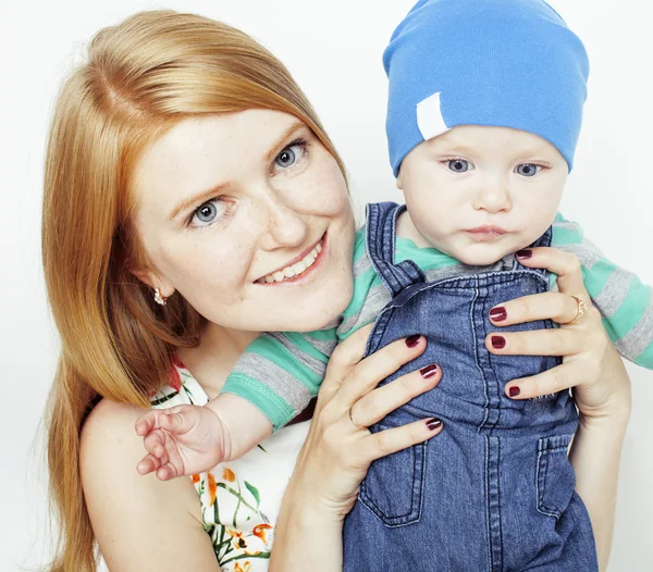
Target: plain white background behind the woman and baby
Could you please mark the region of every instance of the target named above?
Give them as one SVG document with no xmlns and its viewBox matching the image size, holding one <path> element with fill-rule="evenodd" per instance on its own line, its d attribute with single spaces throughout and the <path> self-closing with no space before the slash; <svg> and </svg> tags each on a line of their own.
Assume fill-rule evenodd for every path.
<svg viewBox="0 0 653 572">
<path fill-rule="evenodd" d="M 58 343 L 40 269 L 41 171 L 57 87 L 85 41 L 100 27 L 153 8 L 197 12 L 241 27 L 289 67 L 313 102 L 349 169 L 357 203 L 401 200 L 386 160 L 381 53 L 412 3 L 59 0 L 2 9 L 0 571 L 33 568 L 49 554 L 39 422 Z M 553 5 L 583 39 L 592 62 L 583 132 L 562 211 L 581 222 L 611 259 L 653 283 L 653 10 L 646 0 L 557 0 Z M 653 373 L 629 371 L 634 406 L 613 572 L 653 570 Z"/>
</svg>

